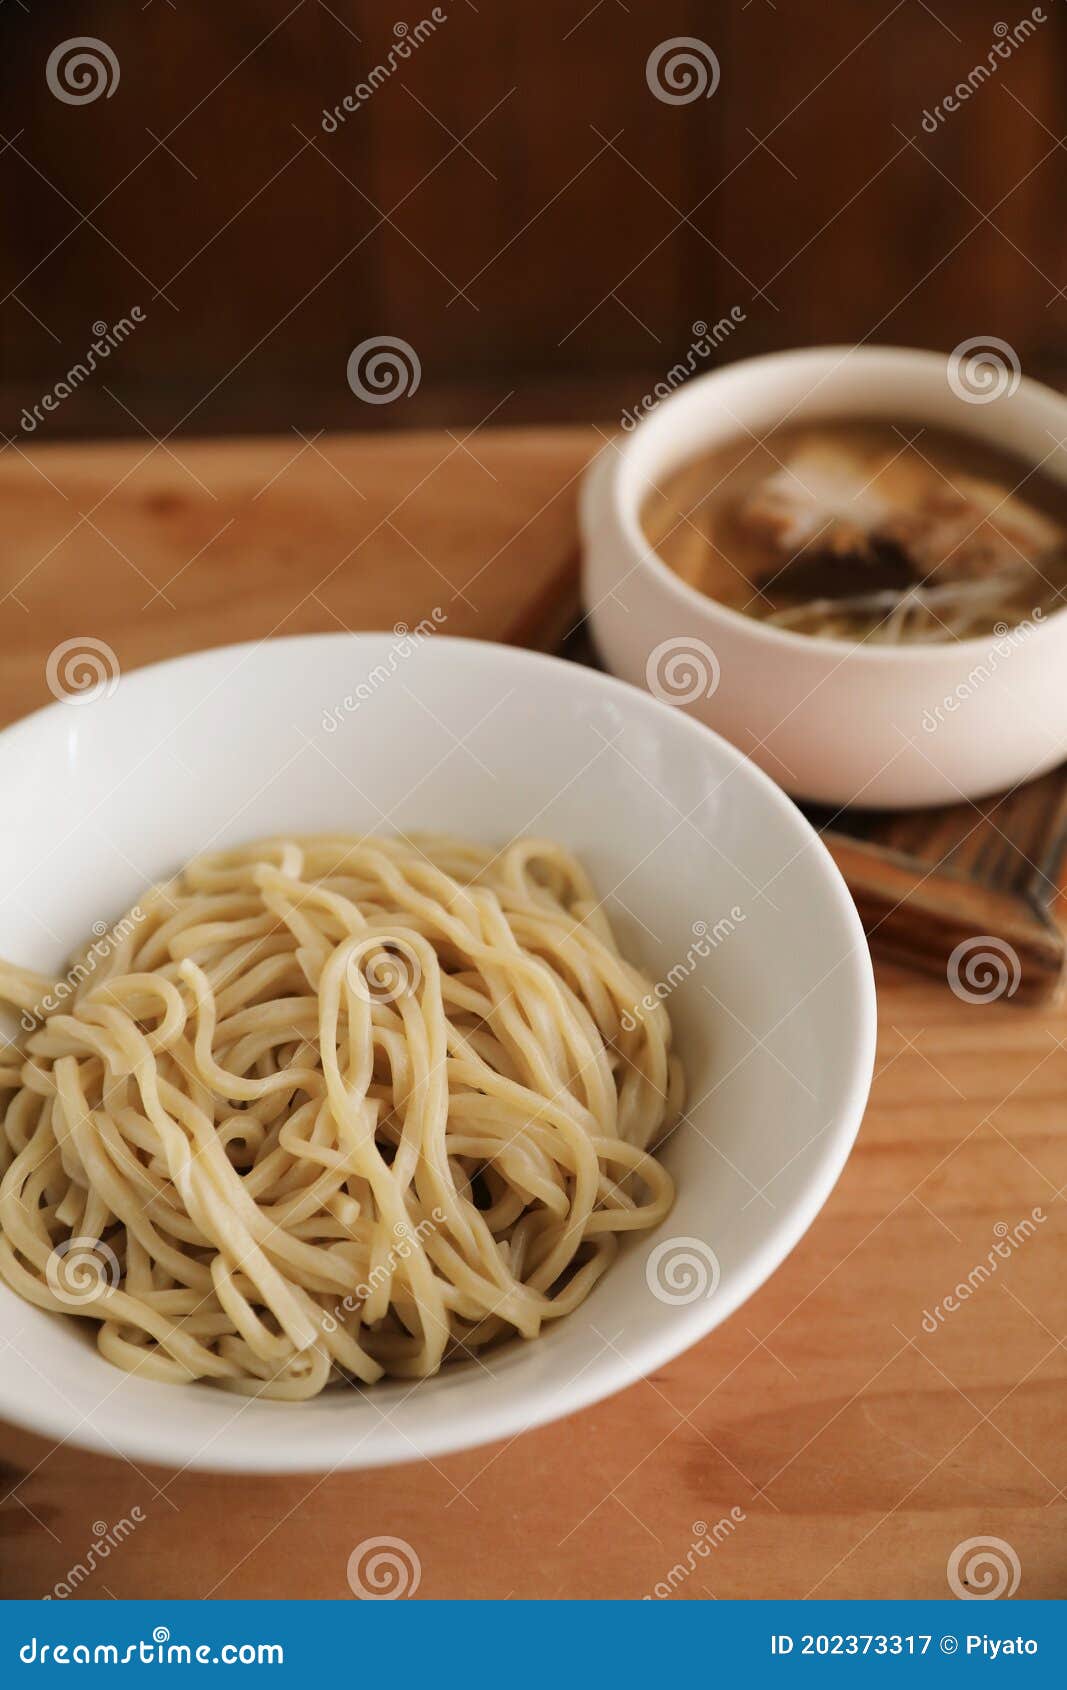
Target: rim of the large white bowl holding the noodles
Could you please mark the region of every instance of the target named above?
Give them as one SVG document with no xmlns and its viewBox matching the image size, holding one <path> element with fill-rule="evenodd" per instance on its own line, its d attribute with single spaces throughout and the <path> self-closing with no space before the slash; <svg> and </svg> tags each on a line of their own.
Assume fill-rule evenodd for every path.
<svg viewBox="0 0 1067 1690">
<path fill-rule="evenodd" d="M 335 646 L 387 644 L 396 642 L 396 637 L 394 630 L 367 630 L 358 634 L 294 634 L 281 639 L 211 646 L 196 652 L 186 652 L 179 657 L 167 657 L 161 662 L 130 669 L 123 673 L 123 690 L 127 693 L 129 690 L 135 691 L 140 678 L 157 676 L 166 669 L 178 671 L 208 668 L 211 664 L 223 664 L 227 659 L 240 657 L 242 654 L 254 656 L 262 652 L 265 661 L 276 654 L 279 647 L 298 652 L 301 649 L 321 649 L 323 642 Z M 845 960 L 851 972 L 849 997 L 854 1004 L 856 1028 L 852 1029 L 852 1036 L 844 1041 L 849 1053 L 847 1061 L 842 1065 L 840 1078 L 835 1085 L 832 1085 L 832 1095 L 827 1098 L 827 1105 L 832 1114 L 832 1131 L 824 1132 L 820 1137 L 817 1161 L 808 1175 L 805 1191 L 788 1215 L 783 1215 L 773 1227 L 771 1235 L 764 1240 L 763 1247 L 754 1251 L 744 1266 L 734 1273 L 734 1283 L 727 1291 L 715 1293 L 715 1296 L 709 1301 L 670 1308 L 666 1311 L 670 1318 L 665 1318 L 659 1327 L 654 1327 L 651 1335 L 636 1347 L 632 1355 L 624 1357 L 609 1352 L 607 1355 L 599 1357 L 597 1366 L 590 1367 L 577 1381 L 568 1381 L 563 1387 L 560 1387 L 560 1384 L 553 1386 L 551 1381 L 539 1382 L 536 1389 L 506 1408 L 487 1403 L 484 1415 L 472 1415 L 470 1420 L 460 1426 L 450 1425 L 448 1415 L 445 1413 L 431 1431 L 419 1430 L 418 1448 L 413 1447 L 411 1438 L 406 1433 L 396 1431 L 387 1421 L 379 1423 L 370 1433 L 364 1433 L 362 1436 L 347 1435 L 343 1430 L 328 1433 L 321 1425 L 318 1425 L 306 1438 L 306 1443 L 315 1447 L 298 1448 L 294 1445 L 301 1443 L 298 1430 L 301 1425 L 299 1404 L 274 1401 L 260 1401 L 260 1406 L 277 1415 L 277 1430 L 274 1433 L 276 1442 L 272 1443 L 269 1453 L 257 1450 L 252 1438 L 247 1438 L 247 1443 L 242 1445 L 240 1436 L 235 1440 L 233 1447 L 225 1447 L 223 1450 L 213 1450 L 211 1447 L 193 1450 L 193 1438 L 183 1435 L 181 1423 L 162 1425 L 161 1421 L 159 1426 L 152 1426 L 144 1421 L 135 1423 L 130 1420 L 127 1425 L 120 1425 L 117 1406 L 112 1409 L 112 1418 L 108 1420 L 110 1435 L 103 1436 L 90 1421 L 79 1425 L 78 1413 L 73 1408 L 69 1413 L 54 1411 L 49 1406 L 36 1411 L 32 1403 L 12 1399 L 7 1386 L 7 1376 L 0 1369 L 0 1415 L 14 1425 L 24 1426 L 27 1431 L 37 1433 L 37 1436 L 52 1436 L 59 1442 L 68 1442 L 79 1448 L 90 1448 L 101 1455 L 139 1458 L 166 1467 L 181 1467 L 183 1470 L 249 1474 L 342 1472 L 353 1469 L 392 1467 L 431 1457 L 455 1455 L 463 1450 L 477 1448 L 479 1445 L 509 1440 L 523 1431 L 533 1431 L 538 1426 L 575 1415 L 580 1409 L 590 1408 L 594 1403 L 600 1403 L 605 1398 L 614 1396 L 626 1386 L 634 1384 L 639 1377 L 646 1377 L 659 1367 L 668 1366 L 678 1355 L 685 1354 L 685 1350 L 692 1349 L 693 1344 L 700 1342 L 700 1338 L 714 1332 L 715 1327 L 722 1325 L 724 1320 L 729 1320 L 729 1317 L 736 1313 L 736 1310 L 741 1308 L 741 1305 L 746 1303 L 749 1296 L 752 1296 L 766 1283 L 766 1279 L 769 1279 L 786 1256 L 790 1256 L 802 1237 L 808 1232 L 812 1222 L 837 1185 L 852 1144 L 856 1142 L 867 1105 L 871 1078 L 874 1073 L 878 1004 L 871 953 L 859 921 L 859 913 L 837 864 L 830 857 L 830 852 L 812 823 L 796 808 L 793 799 L 788 798 L 786 793 L 783 793 L 781 788 L 763 772 L 763 769 L 730 745 L 729 740 L 724 740 L 720 733 L 715 733 L 714 728 L 695 722 L 676 706 L 653 698 L 651 693 L 646 693 L 637 686 L 631 686 L 627 681 L 619 681 L 616 676 L 604 674 L 599 669 L 588 669 L 565 657 L 528 651 L 521 646 L 502 646 L 494 641 L 465 639 L 450 634 L 435 634 L 428 639 L 423 647 L 423 656 L 431 656 L 435 651 L 441 649 L 462 654 L 467 664 L 473 659 L 477 662 L 497 664 L 502 668 L 555 669 L 560 674 L 565 674 L 568 678 L 568 684 L 575 686 L 578 691 L 609 691 L 626 695 L 631 705 L 639 711 L 644 711 L 651 720 L 665 723 L 670 718 L 675 723 L 670 732 L 678 732 L 693 740 L 700 739 L 702 744 L 707 744 L 705 735 L 710 735 L 719 754 L 736 769 L 742 771 L 741 777 L 749 781 L 752 788 L 763 794 L 763 799 L 773 811 L 778 813 L 786 828 L 791 828 L 807 847 L 813 848 L 817 860 L 824 867 L 824 880 L 832 911 L 840 919 L 845 936 L 849 938 Z M 277 681 L 276 671 L 272 674 L 272 681 Z M 0 744 L 10 742 L 14 737 L 25 737 L 32 732 L 32 727 L 39 718 L 49 717 L 63 708 L 64 705 L 56 701 L 52 705 L 44 705 L 41 710 L 32 711 L 32 715 L 24 717 L 19 722 L 14 722 L 0 732 Z M 426 1381 L 424 1384 L 428 1389 L 433 1389 L 433 1381 Z M 164 1384 L 159 1387 L 167 1393 L 186 1389 L 184 1386 Z M 201 1389 L 210 1387 L 201 1386 Z M 227 1393 L 218 1393 L 218 1396 L 222 1409 L 230 1403 L 230 1399 Z M 178 1406 L 178 1403 L 179 1399 L 176 1399 L 174 1406 Z M 225 1428 L 220 1431 L 220 1442 L 223 1436 Z M 348 1442 L 348 1438 L 352 1438 L 352 1442 Z"/>
</svg>

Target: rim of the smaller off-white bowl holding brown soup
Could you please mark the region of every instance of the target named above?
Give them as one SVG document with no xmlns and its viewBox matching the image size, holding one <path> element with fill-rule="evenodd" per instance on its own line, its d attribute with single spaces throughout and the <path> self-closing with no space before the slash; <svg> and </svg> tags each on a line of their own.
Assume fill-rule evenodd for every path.
<svg viewBox="0 0 1067 1690">
<path fill-rule="evenodd" d="M 680 402 L 692 404 L 692 395 L 697 389 L 705 392 L 709 404 L 714 404 L 714 384 L 734 375 L 739 370 L 756 370 L 771 363 L 800 363 L 803 360 L 818 362 L 827 358 L 839 358 L 844 363 L 847 358 L 874 360 L 893 357 L 898 360 L 913 360 L 917 368 L 937 370 L 942 368 L 945 358 L 942 353 L 930 352 L 922 346 L 886 346 L 886 345 L 839 345 L 839 346 L 793 346 L 786 352 L 763 352 L 754 358 L 737 358 L 736 363 L 724 363 L 717 370 L 705 370 L 703 375 L 697 375 L 690 382 L 683 382 L 670 399 L 659 401 L 654 411 L 648 412 L 637 428 L 626 436 L 626 444 L 619 446 L 616 438 L 609 439 L 595 458 L 590 461 L 585 475 L 594 477 L 600 465 L 610 465 L 612 460 L 607 453 L 616 453 L 616 463 L 612 465 L 610 477 L 605 477 L 605 492 L 610 493 L 614 502 L 614 515 L 622 526 L 626 541 L 639 556 L 639 561 L 651 568 L 653 575 L 658 578 L 661 586 L 678 600 L 680 605 L 690 610 L 698 610 L 702 615 L 710 615 L 712 620 L 722 619 L 729 627 L 739 630 L 742 629 L 754 641 L 761 641 L 778 651 L 818 651 L 829 657 L 839 657 L 842 662 L 847 659 L 851 662 L 878 662 L 878 664 L 901 664 L 901 662 L 923 662 L 933 666 L 935 662 L 944 662 L 949 652 L 960 652 L 964 657 L 977 657 L 979 652 L 988 652 L 999 639 L 1010 639 L 1013 630 L 1021 624 L 1015 622 L 1008 627 L 1004 634 L 977 634 L 971 639 L 957 641 L 933 641 L 928 646 L 869 646 L 864 641 L 851 644 L 849 641 L 830 639 L 825 634 L 796 634 L 793 629 L 773 627 L 769 622 L 763 622 L 759 617 L 746 617 L 742 610 L 730 610 L 724 605 L 720 598 L 712 598 L 710 593 L 702 593 L 698 586 L 690 586 L 683 581 L 680 575 L 675 575 L 670 563 L 659 556 L 654 546 L 649 546 L 644 537 L 644 531 L 637 515 L 637 497 L 636 490 L 631 493 L 629 488 L 622 488 L 621 482 L 627 470 L 632 468 L 631 455 L 634 451 L 634 441 L 637 441 L 644 429 L 661 416 L 665 411 L 671 409 Z M 1053 387 L 1047 382 L 1037 382 L 1030 375 L 1020 375 L 1020 384 L 1016 392 L 1025 390 L 1031 399 L 1043 399 L 1059 402 L 1064 409 L 1065 433 L 1067 433 L 1067 397 L 1057 394 Z M 967 434 L 960 429 L 960 434 Z M 1050 615 L 1042 617 L 1040 624 L 1033 630 L 1033 639 L 1040 639 L 1048 632 L 1053 622 L 1059 622 L 1067 615 L 1067 602 L 1062 603 Z"/>
</svg>

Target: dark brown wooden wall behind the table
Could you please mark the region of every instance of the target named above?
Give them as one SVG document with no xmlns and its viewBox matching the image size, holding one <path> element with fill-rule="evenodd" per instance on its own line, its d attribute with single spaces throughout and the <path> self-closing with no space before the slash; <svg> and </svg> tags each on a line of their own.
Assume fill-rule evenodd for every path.
<svg viewBox="0 0 1067 1690">
<path fill-rule="evenodd" d="M 998 335 L 1057 370 L 1067 321 L 1067 5 L 935 134 L 1023 0 L 8 0 L 3 433 L 95 321 L 145 321 L 36 431 L 473 424 L 610 416 L 685 352 Z M 68 105 L 52 47 L 108 42 Z M 719 57 L 666 105 L 671 35 Z M 3 145 L 0 144 L 0 145 Z M 419 390 L 362 404 L 350 350 L 399 336 Z M 129 409 L 127 409 L 129 407 Z M 25 431 L 20 431 L 22 439 Z"/>
</svg>

